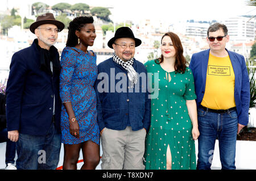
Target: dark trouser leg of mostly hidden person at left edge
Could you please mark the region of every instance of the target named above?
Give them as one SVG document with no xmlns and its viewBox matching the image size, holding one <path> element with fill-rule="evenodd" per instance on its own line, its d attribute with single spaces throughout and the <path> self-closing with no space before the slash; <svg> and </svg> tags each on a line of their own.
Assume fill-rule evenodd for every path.
<svg viewBox="0 0 256 181">
<path fill-rule="evenodd" d="M 8 139 L 7 128 L 0 131 L 0 142 L 6 142 L 5 163 L 14 163 L 16 154 L 16 142 Z"/>
</svg>

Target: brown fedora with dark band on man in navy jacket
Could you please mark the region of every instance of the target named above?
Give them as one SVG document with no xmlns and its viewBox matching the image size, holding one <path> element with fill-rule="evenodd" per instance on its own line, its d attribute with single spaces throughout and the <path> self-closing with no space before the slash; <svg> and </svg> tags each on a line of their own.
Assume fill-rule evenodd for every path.
<svg viewBox="0 0 256 181">
<path fill-rule="evenodd" d="M 57 26 L 58 29 L 60 29 L 60 31 L 62 31 L 65 27 L 64 23 L 62 23 L 58 20 L 55 20 L 52 13 L 46 13 L 46 14 L 42 14 L 42 15 L 38 16 L 38 18 L 36 18 L 36 22 L 34 22 L 30 25 L 30 31 L 32 33 L 35 33 L 35 29 L 42 24 L 54 24 Z"/>
</svg>

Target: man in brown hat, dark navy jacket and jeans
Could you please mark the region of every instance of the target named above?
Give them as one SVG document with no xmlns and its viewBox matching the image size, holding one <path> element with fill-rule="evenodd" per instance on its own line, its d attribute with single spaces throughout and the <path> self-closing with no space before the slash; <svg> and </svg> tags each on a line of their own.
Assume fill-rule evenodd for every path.
<svg viewBox="0 0 256 181">
<path fill-rule="evenodd" d="M 6 88 L 8 138 L 17 142 L 17 169 L 56 169 L 60 154 L 60 61 L 56 43 L 64 24 L 53 14 L 30 26 L 31 47 L 14 53 Z"/>
</svg>

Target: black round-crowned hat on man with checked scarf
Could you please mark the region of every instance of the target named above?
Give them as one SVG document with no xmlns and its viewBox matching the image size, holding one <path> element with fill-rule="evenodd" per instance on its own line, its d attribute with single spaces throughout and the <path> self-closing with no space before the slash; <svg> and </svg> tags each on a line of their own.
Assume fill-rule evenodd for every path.
<svg viewBox="0 0 256 181">
<path fill-rule="evenodd" d="M 117 29 L 117 31 L 115 31 L 115 36 L 109 40 L 108 42 L 109 48 L 113 49 L 112 45 L 115 42 L 115 40 L 120 39 L 122 37 L 129 37 L 131 39 L 134 39 L 135 47 L 138 47 L 139 45 L 141 45 L 141 40 L 134 37 L 133 31 L 131 31 L 129 27 L 120 27 Z"/>
</svg>

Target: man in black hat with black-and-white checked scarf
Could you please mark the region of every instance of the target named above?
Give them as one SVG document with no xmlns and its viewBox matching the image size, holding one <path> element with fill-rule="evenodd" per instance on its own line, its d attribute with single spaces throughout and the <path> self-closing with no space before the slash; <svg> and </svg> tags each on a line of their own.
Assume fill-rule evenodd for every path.
<svg viewBox="0 0 256 181">
<path fill-rule="evenodd" d="M 144 140 L 150 127 L 147 72 L 135 60 L 141 40 L 121 27 L 109 40 L 114 54 L 98 65 L 97 121 L 101 132 L 101 169 L 144 169 Z"/>
</svg>

